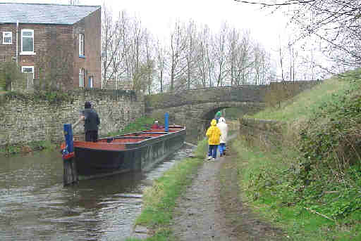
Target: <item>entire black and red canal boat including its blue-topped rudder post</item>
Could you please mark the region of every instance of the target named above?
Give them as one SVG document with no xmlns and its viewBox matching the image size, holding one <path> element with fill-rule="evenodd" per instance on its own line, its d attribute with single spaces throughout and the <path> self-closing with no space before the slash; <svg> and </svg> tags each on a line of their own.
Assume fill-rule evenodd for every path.
<svg viewBox="0 0 361 241">
<path fill-rule="evenodd" d="M 151 169 L 181 148 L 185 141 L 185 127 L 167 127 L 87 142 L 72 141 L 71 126 L 66 129 L 64 125 L 66 143 L 61 148 L 64 185 L 83 179 Z M 73 147 L 70 146 L 72 144 Z"/>
</svg>

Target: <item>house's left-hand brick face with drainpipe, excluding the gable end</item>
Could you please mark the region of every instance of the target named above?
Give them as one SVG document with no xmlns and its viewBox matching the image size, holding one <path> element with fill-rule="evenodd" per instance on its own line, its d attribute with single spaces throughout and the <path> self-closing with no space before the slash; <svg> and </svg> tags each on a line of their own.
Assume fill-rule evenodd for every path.
<svg viewBox="0 0 361 241">
<path fill-rule="evenodd" d="M 34 30 L 35 55 L 21 54 L 21 30 Z M 13 32 L 13 43 L 0 44 L 0 61 L 16 60 L 16 24 L 0 25 L 2 32 Z M 41 86 L 51 85 L 56 89 L 70 89 L 73 86 L 73 55 L 75 52 L 73 26 L 39 25 L 19 23 L 18 64 L 21 67 L 33 66 L 35 82 Z"/>
</svg>

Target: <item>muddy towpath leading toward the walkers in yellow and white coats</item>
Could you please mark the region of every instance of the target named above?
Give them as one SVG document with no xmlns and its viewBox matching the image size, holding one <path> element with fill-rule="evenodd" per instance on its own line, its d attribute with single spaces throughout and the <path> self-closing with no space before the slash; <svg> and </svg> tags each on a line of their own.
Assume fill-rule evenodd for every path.
<svg viewBox="0 0 361 241">
<path fill-rule="evenodd" d="M 214 162 L 204 162 L 177 201 L 172 226 L 177 240 L 285 240 L 282 230 L 243 204 L 235 159 L 230 150 Z"/>
</svg>

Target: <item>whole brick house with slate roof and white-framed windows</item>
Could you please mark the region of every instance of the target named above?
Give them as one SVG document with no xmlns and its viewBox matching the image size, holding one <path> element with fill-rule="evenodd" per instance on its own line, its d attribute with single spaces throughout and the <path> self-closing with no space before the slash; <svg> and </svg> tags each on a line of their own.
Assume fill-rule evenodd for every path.
<svg viewBox="0 0 361 241">
<path fill-rule="evenodd" d="M 0 61 L 41 87 L 101 88 L 101 29 L 100 6 L 0 3 Z"/>
</svg>

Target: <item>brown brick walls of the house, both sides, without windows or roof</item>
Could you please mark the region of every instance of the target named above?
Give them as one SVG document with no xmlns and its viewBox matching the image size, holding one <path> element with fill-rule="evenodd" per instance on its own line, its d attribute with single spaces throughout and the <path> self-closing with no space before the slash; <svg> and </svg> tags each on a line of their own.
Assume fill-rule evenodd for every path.
<svg viewBox="0 0 361 241">
<path fill-rule="evenodd" d="M 74 89 L 79 86 L 79 69 L 85 69 L 93 87 L 101 88 L 101 8 L 74 25 L 19 23 L 18 64 L 34 67 L 35 82 L 40 88 Z M 35 55 L 21 55 L 21 30 L 34 30 Z M 13 44 L 2 43 L 2 32 L 13 33 Z M 80 58 L 79 34 L 85 36 L 85 58 Z M 0 24 L 0 61 L 16 60 L 16 23 Z"/>
</svg>

